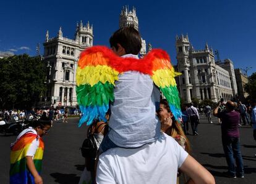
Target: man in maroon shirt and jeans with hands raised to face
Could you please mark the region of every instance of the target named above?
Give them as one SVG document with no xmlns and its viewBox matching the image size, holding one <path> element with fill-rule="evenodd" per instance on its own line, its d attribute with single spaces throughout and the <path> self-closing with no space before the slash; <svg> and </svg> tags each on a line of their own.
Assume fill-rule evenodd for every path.
<svg viewBox="0 0 256 184">
<path fill-rule="evenodd" d="M 244 164 L 242 161 L 242 154 L 239 142 L 239 116 L 240 114 L 235 111 L 236 104 L 232 101 L 226 103 L 226 111 L 218 113 L 218 108 L 221 102 L 213 111 L 213 115 L 221 119 L 221 139 L 224 154 L 228 164 L 228 172 L 224 172 L 224 175 L 231 178 L 244 178 Z M 234 158 L 236 159 L 236 167 L 234 164 Z"/>
</svg>

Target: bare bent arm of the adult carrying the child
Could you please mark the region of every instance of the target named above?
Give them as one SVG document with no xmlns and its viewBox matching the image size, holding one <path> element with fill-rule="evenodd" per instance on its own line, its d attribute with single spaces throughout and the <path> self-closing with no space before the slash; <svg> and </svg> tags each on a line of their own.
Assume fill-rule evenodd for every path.
<svg viewBox="0 0 256 184">
<path fill-rule="evenodd" d="M 200 183 L 200 184 L 214 184 L 215 179 L 213 175 L 208 172 L 205 167 L 199 164 L 192 156 L 187 156 L 186 160 L 183 162 L 181 168 L 182 172 L 189 175 L 190 180 L 187 184 Z"/>
</svg>

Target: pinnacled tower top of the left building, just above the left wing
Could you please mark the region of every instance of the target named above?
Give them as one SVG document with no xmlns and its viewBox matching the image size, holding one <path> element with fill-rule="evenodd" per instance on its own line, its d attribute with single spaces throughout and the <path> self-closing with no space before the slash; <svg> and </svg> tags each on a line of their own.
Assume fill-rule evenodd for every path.
<svg viewBox="0 0 256 184">
<path fill-rule="evenodd" d="M 87 22 L 87 25 L 83 26 L 82 20 L 80 25 L 77 23 L 77 29 L 75 31 L 75 41 L 79 42 L 82 47 L 93 46 L 93 25 Z"/>
</svg>

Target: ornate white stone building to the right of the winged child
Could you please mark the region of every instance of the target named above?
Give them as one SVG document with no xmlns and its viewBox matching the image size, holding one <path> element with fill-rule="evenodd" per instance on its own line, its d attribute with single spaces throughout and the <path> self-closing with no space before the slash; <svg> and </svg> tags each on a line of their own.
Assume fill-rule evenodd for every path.
<svg viewBox="0 0 256 184">
<path fill-rule="evenodd" d="M 192 98 L 218 102 L 220 98 L 228 101 L 237 97 L 231 60 L 215 62 L 213 49 L 206 44 L 205 49 L 195 50 L 188 35 L 176 37 L 176 52 L 177 70 L 182 73 L 177 79 L 177 86 L 185 102 L 191 102 Z"/>
</svg>

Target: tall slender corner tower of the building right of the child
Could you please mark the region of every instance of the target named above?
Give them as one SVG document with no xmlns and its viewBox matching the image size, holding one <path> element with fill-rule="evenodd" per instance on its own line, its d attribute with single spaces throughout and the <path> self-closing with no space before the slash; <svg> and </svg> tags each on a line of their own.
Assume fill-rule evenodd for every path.
<svg viewBox="0 0 256 184">
<path fill-rule="evenodd" d="M 186 102 L 190 102 L 192 96 L 192 84 L 190 79 L 190 47 L 189 36 L 183 34 L 176 36 L 177 69 L 182 73 L 179 76 L 179 92 Z"/>
</svg>

